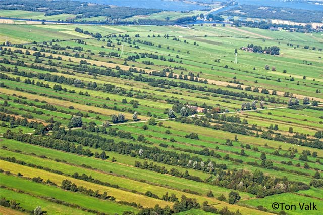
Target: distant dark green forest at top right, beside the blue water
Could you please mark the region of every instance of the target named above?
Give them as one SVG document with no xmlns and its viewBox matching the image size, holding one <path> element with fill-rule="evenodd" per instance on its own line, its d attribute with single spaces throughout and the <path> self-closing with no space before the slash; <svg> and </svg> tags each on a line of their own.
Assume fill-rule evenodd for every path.
<svg viewBox="0 0 323 215">
<path fill-rule="evenodd" d="M 265 7 L 256 5 L 241 5 L 239 7 L 234 7 L 229 11 L 222 12 L 222 15 L 264 19 L 282 19 L 302 23 L 321 22 L 323 20 L 323 11 Z"/>
</svg>

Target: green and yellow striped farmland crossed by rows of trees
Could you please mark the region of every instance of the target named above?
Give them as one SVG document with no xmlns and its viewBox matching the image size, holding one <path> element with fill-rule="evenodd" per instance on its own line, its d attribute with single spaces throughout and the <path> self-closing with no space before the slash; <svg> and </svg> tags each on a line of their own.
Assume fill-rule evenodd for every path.
<svg viewBox="0 0 323 215">
<path fill-rule="evenodd" d="M 0 16 L 44 14 L 3 10 Z M 88 20 L 100 19 L 105 17 Z M 6 37 L 11 46 L 0 50 L 0 197 L 27 210 L 41 206 L 48 214 L 172 208 L 166 193 L 252 215 L 280 212 L 273 202 L 321 204 L 321 188 L 309 186 L 323 174 L 320 35 L 201 25 L 0 25 L 0 44 Z M 248 44 L 278 46 L 280 55 L 240 50 Z M 302 106 L 305 97 L 318 106 Z M 299 105 L 288 108 L 295 98 Z M 241 111 L 243 103 L 253 102 L 254 110 Z M 195 113 L 189 106 L 207 111 Z M 170 109 L 176 116 L 171 120 Z M 114 123 L 113 114 L 123 114 L 117 117 L 122 123 Z M 81 116 L 82 125 L 73 124 L 73 116 Z M 100 158 L 103 150 L 106 159 Z M 148 165 L 139 168 L 136 161 Z M 76 172 L 99 182 L 73 178 Z M 56 185 L 31 180 L 38 176 Z M 115 200 L 64 190 L 64 179 Z M 229 204 L 231 191 L 241 197 L 235 204 Z M 222 194 L 224 201 L 217 199 Z M 265 197 L 256 198 L 260 194 Z M 200 208 L 178 214 L 210 213 Z"/>
</svg>

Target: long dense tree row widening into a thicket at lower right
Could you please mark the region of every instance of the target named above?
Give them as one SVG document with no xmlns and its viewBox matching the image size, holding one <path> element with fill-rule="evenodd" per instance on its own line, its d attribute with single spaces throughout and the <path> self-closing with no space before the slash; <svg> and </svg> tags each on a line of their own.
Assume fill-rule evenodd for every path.
<svg viewBox="0 0 323 215">
<path fill-rule="evenodd" d="M 55 146 L 57 149 L 61 149 L 64 151 L 69 151 L 71 148 L 70 145 L 72 143 L 64 141 L 64 140 L 69 140 L 71 142 L 77 142 L 79 144 L 89 145 L 90 147 L 100 147 L 105 151 L 115 151 L 120 154 L 129 154 L 131 156 L 138 156 L 140 158 L 151 159 L 156 162 L 163 162 L 170 165 L 179 165 L 179 166 L 185 166 L 185 167 L 192 165 L 192 167 L 194 168 L 194 163 L 197 163 L 198 169 L 201 169 L 201 170 L 205 169 L 209 173 L 213 173 L 214 175 L 220 176 L 213 181 L 215 185 L 218 185 L 221 187 L 227 187 L 229 189 L 239 189 L 241 191 L 254 193 L 259 196 L 273 195 L 277 192 L 282 193 L 282 192 L 291 192 L 291 191 L 301 190 L 301 189 L 308 189 L 308 186 L 306 186 L 301 182 L 290 182 L 290 181 L 287 181 L 287 179 L 283 180 L 284 187 L 286 185 L 286 189 L 285 188 L 281 189 L 280 187 L 277 187 L 279 186 L 277 184 L 281 183 L 280 182 L 281 179 L 263 177 L 262 180 L 258 182 L 254 182 L 251 176 L 254 176 L 255 173 L 251 174 L 249 171 L 244 171 L 242 173 L 233 172 L 232 174 L 227 175 L 227 172 L 223 171 L 222 169 L 216 169 L 216 168 L 213 169 L 208 165 L 202 165 L 202 160 L 196 156 L 191 157 L 189 154 L 183 154 L 183 153 L 179 154 L 172 151 L 161 150 L 156 147 L 151 148 L 143 145 L 127 144 L 122 141 L 119 143 L 115 143 L 113 140 L 107 140 L 106 138 L 100 137 L 98 135 L 89 134 L 82 130 L 65 131 L 65 129 L 60 129 L 59 133 L 58 131 L 54 131 L 52 136 L 45 137 L 45 138 L 35 137 L 33 135 L 28 135 L 28 134 L 13 133 L 11 131 L 8 131 L 7 133 L 4 134 L 4 137 L 10 138 L 10 139 L 17 139 L 19 141 L 28 141 L 33 144 L 43 145 L 47 147 Z M 62 140 L 53 140 L 53 138 L 59 138 Z M 55 143 L 55 145 L 52 145 L 53 143 Z M 176 157 L 177 159 L 172 159 L 173 157 Z M 209 163 L 209 162 L 206 161 L 206 163 Z M 211 164 L 213 165 L 213 167 L 216 166 L 216 164 L 214 164 L 213 162 L 211 162 Z M 243 178 L 239 176 L 241 177 L 243 176 Z M 249 177 L 246 178 L 246 176 L 249 176 Z M 235 183 L 232 183 L 233 181 Z M 242 185 L 238 186 L 238 184 L 241 181 L 243 181 L 244 183 L 243 186 Z M 252 181 L 253 183 L 250 183 Z M 261 186 L 259 186 L 260 185 L 259 183 L 261 184 Z M 259 189 L 259 187 L 263 187 L 263 186 L 266 186 L 266 190 Z"/>
</svg>

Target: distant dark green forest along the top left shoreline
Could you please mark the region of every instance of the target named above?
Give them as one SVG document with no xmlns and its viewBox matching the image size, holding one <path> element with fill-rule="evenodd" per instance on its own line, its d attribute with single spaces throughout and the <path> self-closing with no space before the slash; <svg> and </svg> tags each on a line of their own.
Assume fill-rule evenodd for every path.
<svg viewBox="0 0 323 215">
<path fill-rule="evenodd" d="M 82 14 L 77 18 L 108 16 L 112 19 L 124 19 L 135 15 L 158 13 L 160 9 L 116 7 L 109 5 L 88 4 L 79 1 L 46 0 L 0 0 L 0 9 L 44 12 L 45 16 L 57 14 Z"/>
</svg>

